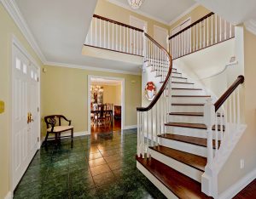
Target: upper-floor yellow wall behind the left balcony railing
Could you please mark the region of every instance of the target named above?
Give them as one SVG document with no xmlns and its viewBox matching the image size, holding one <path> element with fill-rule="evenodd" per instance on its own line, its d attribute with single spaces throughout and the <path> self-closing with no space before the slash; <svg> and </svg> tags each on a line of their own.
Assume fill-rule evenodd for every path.
<svg viewBox="0 0 256 199">
<path fill-rule="evenodd" d="M 121 23 L 130 24 L 130 15 L 137 17 L 140 20 L 145 20 L 148 22 L 148 34 L 150 36 L 154 35 L 154 25 L 166 28 L 169 30 L 169 26 L 166 26 L 158 21 L 151 20 L 141 14 L 132 12 L 129 9 L 123 9 L 113 3 L 109 3 L 107 0 L 98 0 L 96 5 L 95 14 L 107 17 L 111 20 L 117 20 Z"/>
</svg>

